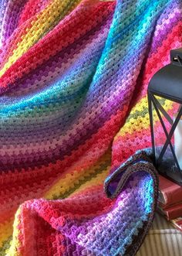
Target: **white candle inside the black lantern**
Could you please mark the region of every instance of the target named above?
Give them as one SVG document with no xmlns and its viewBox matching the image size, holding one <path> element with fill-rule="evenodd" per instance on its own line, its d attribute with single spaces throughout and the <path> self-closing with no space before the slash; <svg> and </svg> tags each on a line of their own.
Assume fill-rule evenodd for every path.
<svg viewBox="0 0 182 256">
<path fill-rule="evenodd" d="M 177 156 L 177 162 L 182 170 L 182 118 L 180 118 L 180 121 L 174 131 L 174 151 Z"/>
</svg>

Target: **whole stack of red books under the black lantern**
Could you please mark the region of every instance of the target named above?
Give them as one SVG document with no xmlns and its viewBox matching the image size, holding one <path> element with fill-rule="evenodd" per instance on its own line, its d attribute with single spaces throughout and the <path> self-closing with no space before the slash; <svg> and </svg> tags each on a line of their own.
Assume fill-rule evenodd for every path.
<svg viewBox="0 0 182 256">
<path fill-rule="evenodd" d="M 159 182 L 157 210 L 182 231 L 182 186 L 163 176 L 159 176 Z"/>
</svg>

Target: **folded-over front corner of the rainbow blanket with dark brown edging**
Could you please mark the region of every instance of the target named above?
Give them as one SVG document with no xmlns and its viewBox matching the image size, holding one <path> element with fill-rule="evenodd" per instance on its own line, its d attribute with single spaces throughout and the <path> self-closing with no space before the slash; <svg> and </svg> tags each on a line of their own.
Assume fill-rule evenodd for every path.
<svg viewBox="0 0 182 256">
<path fill-rule="evenodd" d="M 114 186 L 116 192 L 110 196 L 110 187 Z M 17 213 L 19 228 L 24 234 L 22 254 L 36 254 L 37 246 L 48 239 L 48 230 L 52 239 L 56 238 L 59 243 L 54 254 L 136 254 L 152 224 L 157 206 L 157 172 L 147 154 L 138 152 L 120 166 L 106 179 L 105 190 L 107 196 L 117 197 L 116 200 L 107 199 L 95 187 L 85 196 L 23 203 Z M 39 234 L 42 230 L 46 234 L 44 238 L 42 233 Z M 42 246 L 39 254 L 51 250 L 45 244 Z"/>
</svg>

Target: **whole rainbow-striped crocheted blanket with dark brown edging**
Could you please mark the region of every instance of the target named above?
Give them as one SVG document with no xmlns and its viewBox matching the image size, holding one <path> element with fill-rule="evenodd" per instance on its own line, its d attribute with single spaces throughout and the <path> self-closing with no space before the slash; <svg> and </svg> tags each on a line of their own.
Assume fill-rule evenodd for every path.
<svg viewBox="0 0 182 256">
<path fill-rule="evenodd" d="M 181 46 L 180 9 L 0 1 L 0 255 L 136 254 L 157 176 L 148 152 L 126 159 L 150 146 L 147 85 Z"/>
</svg>

